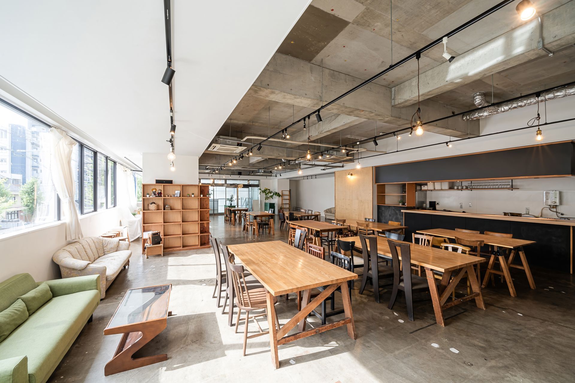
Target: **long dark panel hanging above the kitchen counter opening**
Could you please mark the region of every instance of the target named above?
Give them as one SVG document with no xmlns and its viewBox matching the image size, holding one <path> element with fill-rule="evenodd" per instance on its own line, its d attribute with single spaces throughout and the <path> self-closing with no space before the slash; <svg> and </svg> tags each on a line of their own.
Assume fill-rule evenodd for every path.
<svg viewBox="0 0 575 383">
<path fill-rule="evenodd" d="M 466 154 L 375 168 L 375 183 L 496 179 L 575 174 L 575 144 Z"/>
</svg>

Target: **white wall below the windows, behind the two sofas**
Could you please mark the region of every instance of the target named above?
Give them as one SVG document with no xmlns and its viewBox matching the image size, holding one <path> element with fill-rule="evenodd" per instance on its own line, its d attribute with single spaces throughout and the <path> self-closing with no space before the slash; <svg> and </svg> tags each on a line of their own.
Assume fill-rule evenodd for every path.
<svg viewBox="0 0 575 383">
<path fill-rule="evenodd" d="M 118 208 L 82 215 L 80 225 L 85 237 L 101 235 L 120 225 Z M 60 278 L 60 269 L 52 261 L 52 255 L 67 243 L 64 222 L 0 238 L 0 281 L 18 273 L 30 273 L 36 281 Z"/>
</svg>

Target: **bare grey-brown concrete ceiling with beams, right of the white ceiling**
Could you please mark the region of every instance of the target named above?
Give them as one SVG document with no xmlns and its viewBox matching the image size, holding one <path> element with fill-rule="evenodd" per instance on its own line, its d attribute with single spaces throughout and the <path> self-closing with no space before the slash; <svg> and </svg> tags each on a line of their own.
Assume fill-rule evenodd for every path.
<svg viewBox="0 0 575 383">
<path fill-rule="evenodd" d="M 326 100 L 343 93 L 361 80 L 370 78 L 498 2 L 498 0 L 393 1 L 392 17 L 389 0 L 313 0 L 279 45 L 274 57 L 250 90 L 229 115 L 233 122 L 231 133 L 229 125 L 224 125 L 219 134 L 239 138 L 248 134 L 267 136 L 268 123 L 271 125 L 270 130 L 275 133 L 292 122 L 292 113 L 296 119 L 301 118 L 323 105 Z M 462 81 L 461 86 L 423 97 L 421 105 L 425 111 L 425 119 L 429 121 L 472 109 L 475 107 L 473 94 L 477 91 L 484 91 L 490 100 L 493 90 L 493 100 L 497 102 L 575 80 L 573 64 L 575 47 L 571 45 L 575 42 L 575 37 L 570 30 L 572 28 L 559 25 L 565 22 L 555 21 L 553 17 L 548 18 L 550 22 L 547 24 L 545 22 L 545 14 L 552 14 L 551 11 L 555 14 L 568 13 L 564 16 L 566 20 L 569 18 L 573 20 L 575 12 L 572 5 L 575 2 L 557 9 L 567 3 L 569 0 L 536 2 L 539 14 L 543 15 L 543 25 L 547 28 L 543 35 L 544 40 L 556 39 L 555 35 L 560 33 L 565 35 L 559 36 L 560 41 L 553 43 L 557 46 L 554 56 L 549 57 L 535 49 L 527 52 L 523 61 L 516 61 L 516 65 L 507 65 L 504 69 L 493 72 L 493 76 L 489 74 L 469 82 Z M 524 24 L 532 22 L 530 26 L 535 25 L 533 24 L 535 20 L 528 22 L 520 20 L 515 6 L 516 2 L 505 6 L 451 37 L 448 41 L 448 51 L 455 56 L 463 57 L 473 49 L 489 49 L 494 41 L 497 42 L 497 38 L 502 35 L 509 38 L 505 33 L 520 31 L 521 29 L 517 28 Z M 391 22 L 393 22 L 393 34 L 390 29 Z M 555 30 L 558 33 L 550 36 Z M 516 39 L 513 35 L 511 38 Z M 431 69 L 449 65 L 441 56 L 442 53 L 442 44 L 423 53 L 419 63 L 422 78 L 423 74 Z M 472 64 L 473 60 L 470 65 Z M 333 130 L 329 134 L 323 134 L 319 141 L 339 145 L 341 140 L 343 144 L 348 144 L 356 141 L 357 137 L 373 137 L 379 131 L 387 132 L 409 126 L 409 118 L 416 105 L 393 106 L 395 102 L 393 92 L 389 90 L 392 88 L 395 90 L 400 84 L 408 84 L 408 81 L 416 75 L 417 61 L 411 60 L 375 80 L 373 86 L 362 88 L 345 98 L 343 102 L 338 102 L 335 107 L 323 111 L 324 122 L 326 115 L 338 113 L 358 119 L 350 126 L 334 126 Z M 410 89 L 416 90 L 413 87 Z M 312 123 L 314 120 L 312 118 Z M 461 122 L 461 119 L 456 120 L 449 119 L 434 124 L 435 126 L 428 126 L 427 130 L 453 137 L 467 136 L 469 125 L 465 123 L 464 126 L 460 126 L 458 122 Z M 474 123 L 471 126 L 471 134 L 479 134 L 478 121 L 471 123 Z M 313 136 L 314 128 L 302 133 L 300 123 L 290 129 L 292 137 L 294 135 L 304 137 L 307 134 Z M 297 145 L 283 143 L 274 145 L 279 148 L 284 146 L 298 148 Z M 299 146 L 299 149 L 302 148 L 305 149 L 305 145 Z M 212 153 L 205 153 L 200 158 L 200 164 L 214 161 L 217 161 L 217 158 L 214 158 Z M 243 161 L 242 165 L 247 164 L 246 159 Z M 276 162 L 277 160 L 262 161 L 259 165 L 266 166 Z"/>
</svg>

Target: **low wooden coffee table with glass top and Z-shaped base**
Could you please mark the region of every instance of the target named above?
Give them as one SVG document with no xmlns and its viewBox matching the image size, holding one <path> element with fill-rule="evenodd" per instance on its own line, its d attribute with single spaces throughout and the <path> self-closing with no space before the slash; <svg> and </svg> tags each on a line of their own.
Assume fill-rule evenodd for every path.
<svg viewBox="0 0 575 383">
<path fill-rule="evenodd" d="M 171 291 L 171 284 L 128 290 L 104 328 L 104 335 L 124 334 L 104 367 L 105 376 L 167 361 L 168 354 L 136 359 L 132 355 L 166 328 Z"/>
</svg>

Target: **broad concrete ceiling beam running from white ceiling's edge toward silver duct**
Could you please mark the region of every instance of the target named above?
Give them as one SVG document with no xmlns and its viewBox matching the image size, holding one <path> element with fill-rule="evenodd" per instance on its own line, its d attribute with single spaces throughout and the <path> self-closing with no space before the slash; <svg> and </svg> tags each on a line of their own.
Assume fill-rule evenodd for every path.
<svg viewBox="0 0 575 383">
<path fill-rule="evenodd" d="M 264 99 L 317 108 L 322 104 L 321 78 L 321 67 L 319 65 L 275 53 L 249 92 Z M 362 79 L 324 68 L 323 100 L 334 99 L 361 82 L 363 82 Z M 370 83 L 339 102 L 325 108 L 324 111 L 355 118 L 393 123 L 398 126 L 408 126 L 411 115 L 407 116 L 404 113 L 394 111 L 391 102 L 390 88 Z M 440 103 L 435 103 L 434 107 L 439 110 L 453 110 L 452 107 Z M 471 124 L 470 126 L 471 130 L 476 132 L 474 134 L 478 134 L 479 124 Z M 430 126 L 428 130 L 441 134 L 446 134 L 447 132 L 451 136 L 459 137 L 462 134 L 467 135 L 468 129 L 467 123 L 464 123 L 459 118 L 453 119 L 453 121 L 440 121 L 434 126 Z"/>
</svg>

